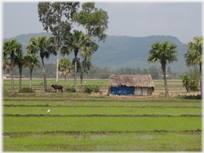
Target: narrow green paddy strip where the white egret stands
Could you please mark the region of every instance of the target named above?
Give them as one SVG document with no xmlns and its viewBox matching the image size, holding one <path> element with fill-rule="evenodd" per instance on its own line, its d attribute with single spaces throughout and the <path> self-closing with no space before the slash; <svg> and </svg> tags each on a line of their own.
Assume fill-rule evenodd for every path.
<svg viewBox="0 0 204 153">
<path fill-rule="evenodd" d="M 151 108 L 151 107 L 4 107 L 4 114 L 44 114 L 49 115 L 201 115 L 201 108 Z"/>
</svg>

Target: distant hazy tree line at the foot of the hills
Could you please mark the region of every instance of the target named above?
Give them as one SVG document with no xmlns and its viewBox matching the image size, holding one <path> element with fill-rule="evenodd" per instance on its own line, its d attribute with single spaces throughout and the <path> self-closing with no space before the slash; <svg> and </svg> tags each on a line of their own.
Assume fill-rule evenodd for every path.
<svg viewBox="0 0 204 153">
<path fill-rule="evenodd" d="M 60 71 L 59 78 L 73 79 L 74 78 L 73 65 L 70 66 L 69 64 L 67 64 L 68 66 L 72 67 L 72 69 L 64 69 L 64 67 L 60 65 L 61 65 L 61 62 L 59 63 L 59 68 L 61 69 L 59 70 Z M 56 64 L 45 63 L 45 69 L 46 69 L 46 78 L 56 78 L 56 74 L 53 73 L 55 72 Z M 190 70 L 191 71 L 186 73 L 192 74 L 197 71 L 197 68 L 190 69 Z M 8 72 L 7 70 L 4 70 L 3 73 L 6 74 Z M 149 68 L 144 68 L 144 69 L 140 69 L 139 67 L 137 68 L 126 67 L 126 68 L 120 68 L 117 70 L 110 70 L 109 67 L 99 68 L 94 65 L 91 65 L 89 71 L 85 72 L 84 79 L 110 79 L 111 75 L 139 75 L 139 74 L 140 75 L 150 74 L 153 79 L 163 79 L 161 69 L 157 68 L 156 66 L 151 66 Z M 14 75 L 19 77 L 19 71 L 17 66 L 14 67 Z M 167 79 L 179 79 L 179 73 L 172 72 L 170 66 L 168 66 L 167 68 L 167 75 L 168 75 Z M 25 67 L 22 71 L 22 77 L 29 78 L 29 76 L 30 76 L 29 68 Z M 43 78 L 42 68 L 37 68 L 36 70 L 34 70 L 32 76 L 33 78 Z M 80 78 L 80 73 L 77 73 L 77 77 Z M 65 85 L 66 85 L 66 81 L 65 81 Z"/>
</svg>

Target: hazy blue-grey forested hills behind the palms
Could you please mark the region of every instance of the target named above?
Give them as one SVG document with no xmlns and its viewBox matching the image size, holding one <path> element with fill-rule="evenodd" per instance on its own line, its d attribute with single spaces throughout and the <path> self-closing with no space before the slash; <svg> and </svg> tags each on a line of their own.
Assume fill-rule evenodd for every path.
<svg viewBox="0 0 204 153">
<path fill-rule="evenodd" d="M 33 34 L 22 34 L 16 37 L 12 37 L 4 40 L 16 39 L 23 45 L 23 51 L 26 54 L 26 46 L 28 45 L 30 37 L 37 37 L 38 35 L 51 36 L 51 33 L 33 33 Z M 152 65 L 160 67 L 160 63 L 148 63 L 148 52 L 151 49 L 150 46 L 154 42 L 163 42 L 169 40 L 171 43 L 177 45 L 177 57 L 178 62 L 173 62 L 170 67 L 173 71 L 184 72 L 188 70 L 185 66 L 184 54 L 187 51 L 186 44 L 183 44 L 176 37 L 172 36 L 148 36 L 148 37 L 129 37 L 129 36 L 107 36 L 105 42 L 98 42 L 99 49 L 93 54 L 92 64 L 104 68 L 109 67 L 111 70 L 116 70 L 118 68 L 148 68 Z M 97 40 L 96 40 L 97 42 Z M 74 54 L 71 53 L 69 56 L 72 60 Z M 62 55 L 60 55 L 60 58 Z M 80 57 L 80 54 L 78 54 Z M 57 57 L 50 56 L 46 59 L 46 63 L 56 63 Z"/>
</svg>

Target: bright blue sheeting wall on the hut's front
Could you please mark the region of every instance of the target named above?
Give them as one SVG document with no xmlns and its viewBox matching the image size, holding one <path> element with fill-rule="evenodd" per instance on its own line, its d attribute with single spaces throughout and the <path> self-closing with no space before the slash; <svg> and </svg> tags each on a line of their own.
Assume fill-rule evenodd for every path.
<svg viewBox="0 0 204 153">
<path fill-rule="evenodd" d="M 113 95 L 134 95 L 134 87 L 127 87 L 127 86 L 111 87 L 111 94 Z"/>
</svg>

